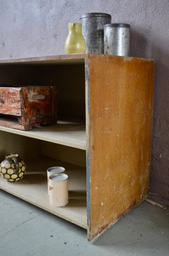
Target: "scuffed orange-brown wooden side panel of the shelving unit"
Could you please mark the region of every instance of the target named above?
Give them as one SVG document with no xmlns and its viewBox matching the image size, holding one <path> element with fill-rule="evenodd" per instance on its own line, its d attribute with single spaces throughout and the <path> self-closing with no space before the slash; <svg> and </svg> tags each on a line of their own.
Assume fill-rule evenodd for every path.
<svg viewBox="0 0 169 256">
<path fill-rule="evenodd" d="M 90 55 L 87 67 L 91 240 L 147 196 L 154 61 Z"/>
</svg>

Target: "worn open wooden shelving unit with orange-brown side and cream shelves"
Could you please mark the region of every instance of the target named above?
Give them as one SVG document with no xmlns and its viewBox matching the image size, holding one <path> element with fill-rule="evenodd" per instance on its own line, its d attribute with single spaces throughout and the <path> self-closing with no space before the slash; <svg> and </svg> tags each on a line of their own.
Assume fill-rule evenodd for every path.
<svg viewBox="0 0 169 256">
<path fill-rule="evenodd" d="M 0 60 L 0 84 L 57 86 L 58 122 L 0 126 L 0 158 L 17 153 L 24 179 L 0 188 L 87 229 L 89 241 L 140 204 L 149 189 L 154 62 L 104 54 Z M 0 116 L 5 118 L 5 116 Z M 10 124 L 10 123 L 9 123 Z M 50 166 L 69 176 L 69 204 L 52 207 Z"/>
</svg>

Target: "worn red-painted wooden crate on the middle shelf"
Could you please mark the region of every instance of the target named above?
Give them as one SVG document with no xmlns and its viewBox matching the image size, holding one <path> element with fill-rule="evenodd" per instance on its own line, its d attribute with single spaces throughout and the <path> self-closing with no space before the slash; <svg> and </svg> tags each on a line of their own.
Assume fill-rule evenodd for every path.
<svg viewBox="0 0 169 256">
<path fill-rule="evenodd" d="M 57 87 L 0 87 L 0 125 L 29 130 L 57 122 Z"/>
</svg>

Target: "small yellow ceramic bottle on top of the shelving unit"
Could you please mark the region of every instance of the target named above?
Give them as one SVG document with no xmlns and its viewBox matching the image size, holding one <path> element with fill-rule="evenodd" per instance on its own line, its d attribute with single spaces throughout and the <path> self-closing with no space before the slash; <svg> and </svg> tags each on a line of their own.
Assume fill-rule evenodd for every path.
<svg viewBox="0 0 169 256">
<path fill-rule="evenodd" d="M 67 54 L 71 53 L 84 53 L 85 52 L 85 40 L 82 36 L 82 24 L 81 23 L 69 23 L 69 34 L 66 38 L 64 50 Z"/>
</svg>

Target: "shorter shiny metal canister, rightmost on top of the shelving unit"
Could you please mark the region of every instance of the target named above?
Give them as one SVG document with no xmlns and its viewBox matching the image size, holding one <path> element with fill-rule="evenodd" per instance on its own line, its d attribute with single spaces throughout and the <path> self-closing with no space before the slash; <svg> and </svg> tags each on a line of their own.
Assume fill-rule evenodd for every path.
<svg viewBox="0 0 169 256">
<path fill-rule="evenodd" d="M 104 26 L 104 53 L 116 56 L 129 55 L 130 25 L 123 23 Z"/>
</svg>

